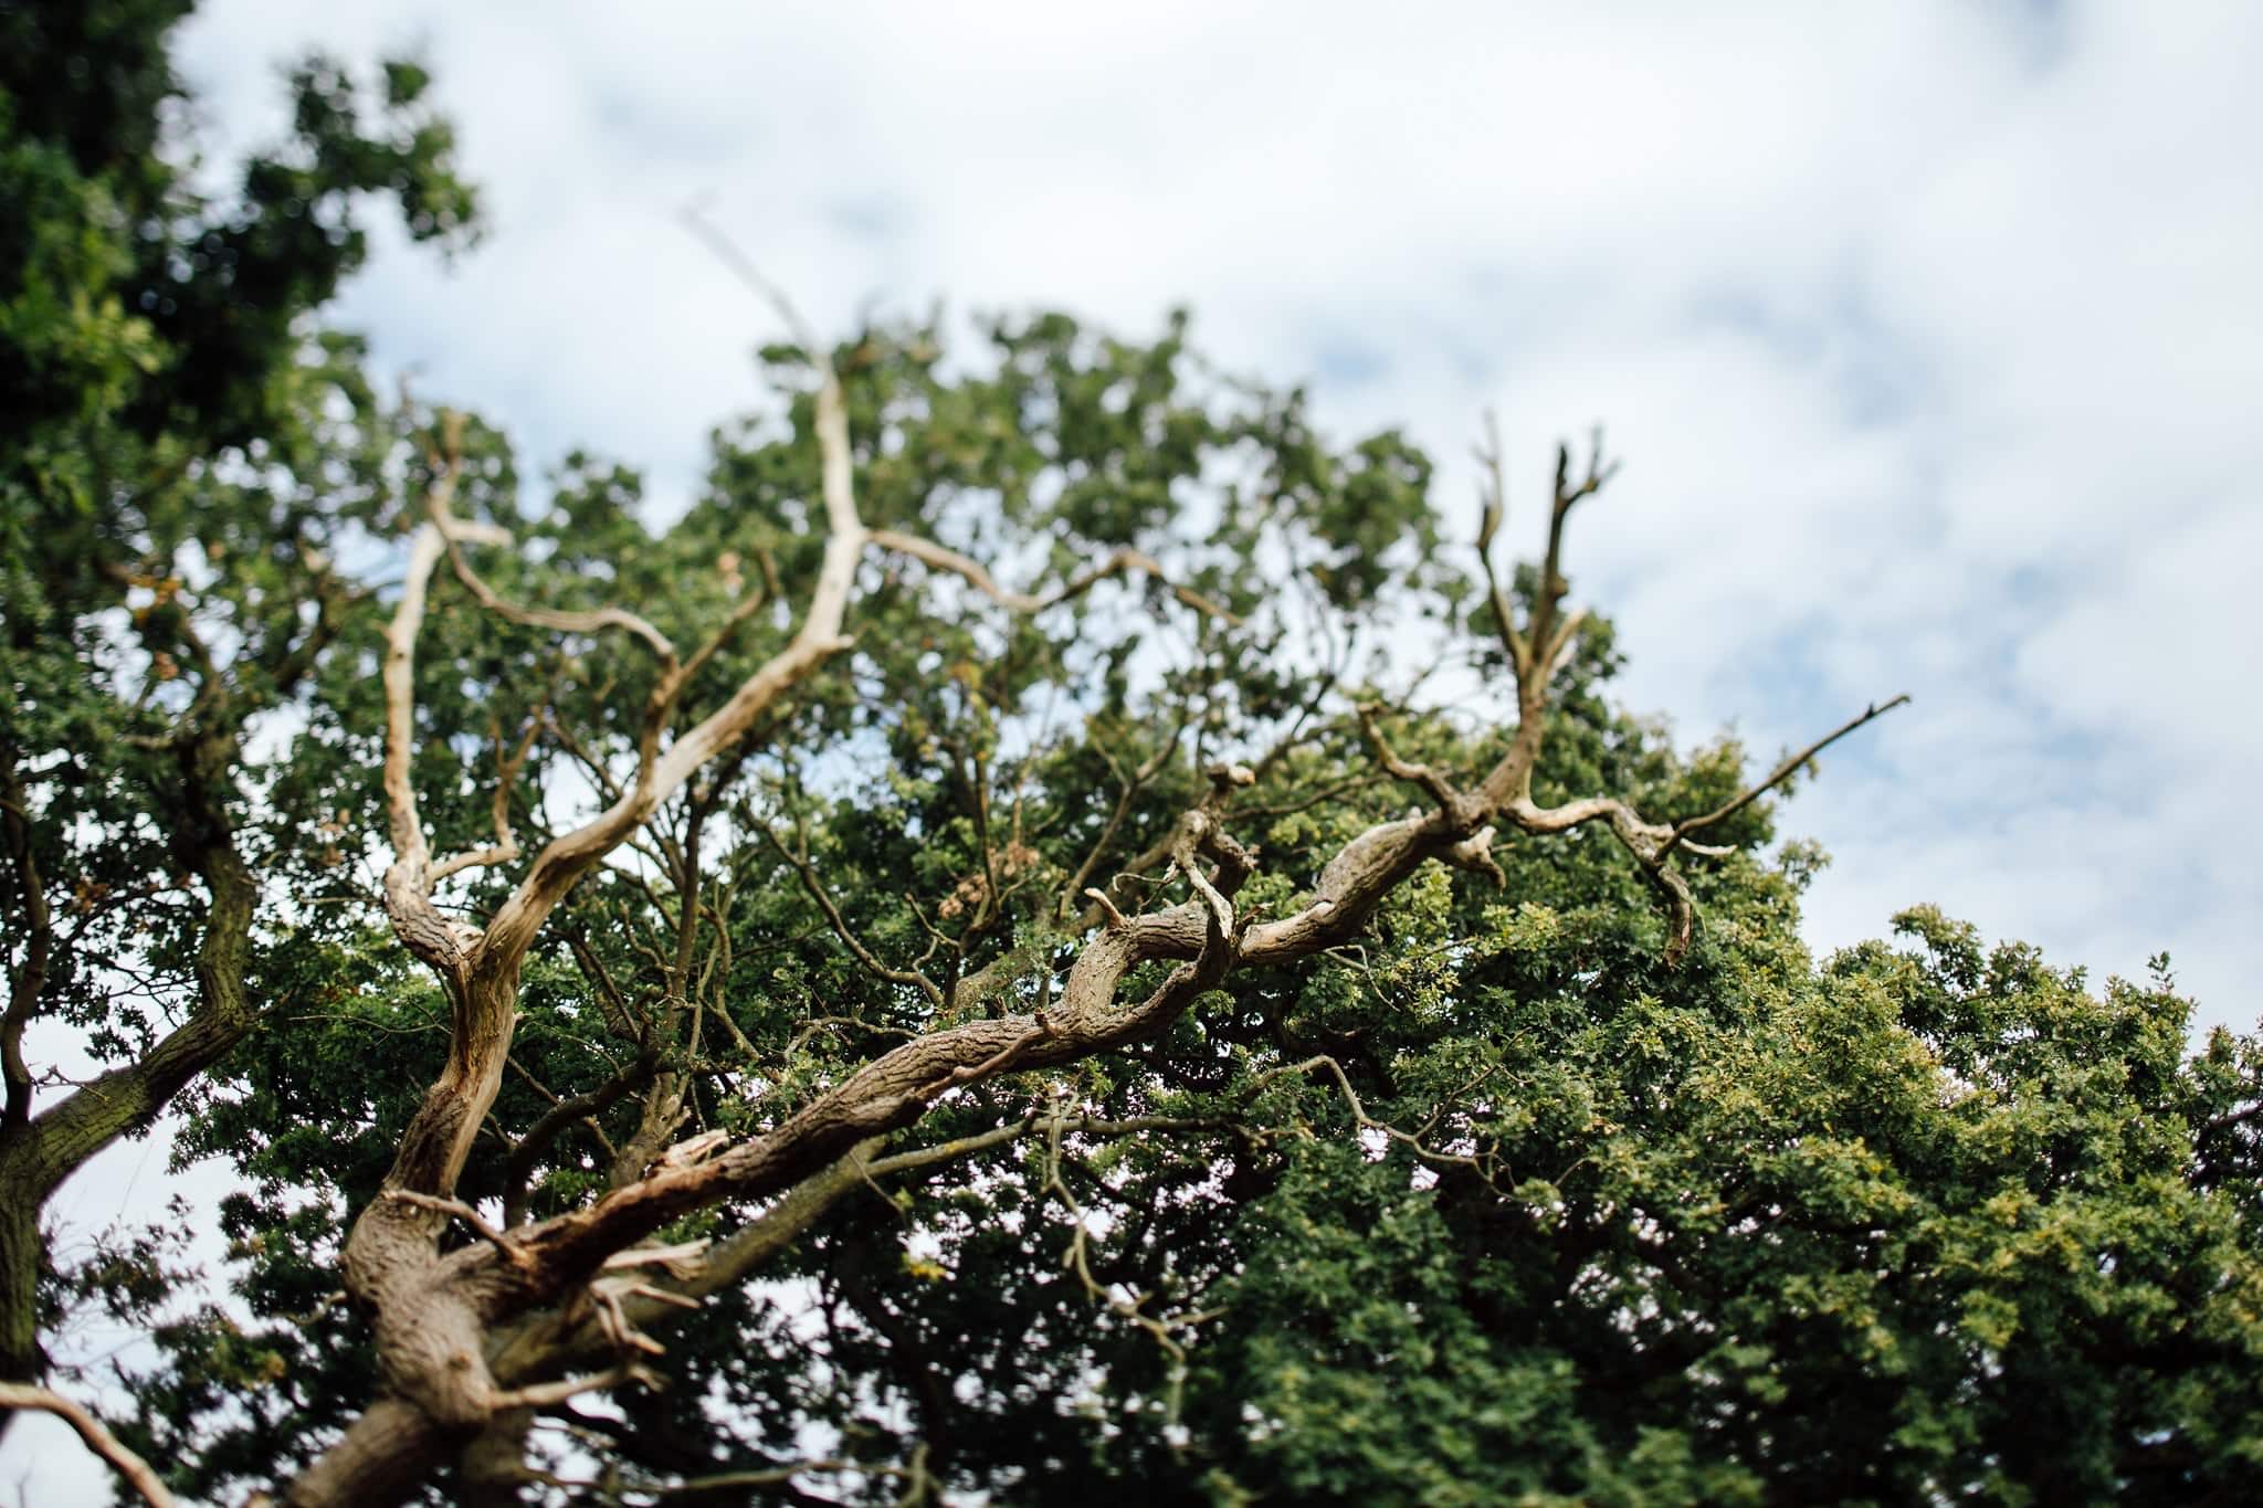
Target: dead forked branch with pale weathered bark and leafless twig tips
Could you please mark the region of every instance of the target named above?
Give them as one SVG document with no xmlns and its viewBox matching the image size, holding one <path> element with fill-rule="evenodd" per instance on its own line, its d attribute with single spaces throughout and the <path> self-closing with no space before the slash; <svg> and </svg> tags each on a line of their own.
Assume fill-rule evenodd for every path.
<svg viewBox="0 0 2263 1508">
<path fill-rule="evenodd" d="M 706 235 L 704 226 L 697 228 Z M 760 283 L 758 274 L 745 267 L 745 260 L 726 242 L 715 240 L 717 251 L 726 260 L 733 260 L 742 276 L 749 276 L 767 298 L 776 298 L 774 289 Z M 1362 728 L 1380 769 L 1392 778 L 1419 785 L 1432 798 L 1432 809 L 1367 827 L 1328 859 L 1306 895 L 1285 904 L 1285 913 L 1260 916 L 1236 909 L 1236 893 L 1254 873 L 1256 855 L 1242 848 L 1224 827 L 1231 818 L 1229 796 L 1256 775 L 1242 766 L 1217 766 L 1211 771 L 1211 794 L 1184 812 L 1170 834 L 1141 859 L 1141 864 L 1152 864 L 1154 868 L 1168 864 L 1170 870 L 1184 875 L 1193 898 L 1179 904 L 1156 902 L 1152 911 L 1127 911 L 1109 898 L 1111 891 L 1084 889 L 1084 895 L 1091 895 L 1095 904 L 1079 918 L 1082 947 L 1075 952 L 1068 974 L 1061 981 L 1057 1002 L 1050 995 L 1048 974 L 1048 1004 L 1043 1008 L 962 1020 L 953 1026 L 914 1035 L 855 1067 L 840 1083 L 815 1092 L 799 1110 L 742 1142 L 726 1146 L 722 1133 L 692 1137 L 649 1162 L 638 1160 L 640 1176 L 627 1176 L 620 1187 L 588 1207 L 514 1225 L 507 1234 L 498 1232 L 487 1228 L 466 1205 L 459 1205 L 453 1194 L 457 1173 L 468 1155 L 471 1137 L 493 1103 L 511 1038 L 518 968 L 536 929 L 591 866 L 618 846 L 634 841 L 661 800 L 706 769 L 722 751 L 745 739 L 781 696 L 849 644 L 842 624 L 864 545 L 878 543 L 910 554 L 935 570 L 953 572 L 975 590 L 1016 610 L 1041 610 L 1066 601 L 1111 574 L 1143 572 L 1161 579 L 1161 570 L 1152 558 L 1138 552 L 1116 552 L 1102 565 L 1077 574 L 1052 592 L 1009 592 L 980 563 L 964 554 L 905 534 L 864 531 L 851 493 L 846 402 L 840 380 L 824 350 L 815 341 L 808 341 L 808 332 L 799 326 L 799 319 L 792 319 L 790 310 L 788 319 L 794 323 L 797 335 L 803 337 L 808 357 L 819 373 L 815 427 L 826 511 L 824 563 L 810 590 L 799 631 L 785 649 L 742 681 L 729 701 L 663 746 L 663 730 L 674 714 L 674 703 L 690 669 L 677 665 L 672 649 L 665 649 L 663 671 L 647 701 L 634 780 L 618 787 L 611 805 L 584 827 L 554 839 L 536 857 L 484 934 L 475 938 L 464 938 L 446 929 L 446 925 L 437 922 L 437 913 L 432 913 L 430 884 L 434 866 L 416 825 L 414 794 L 407 791 L 414 710 L 410 699 L 412 647 L 423 613 L 425 583 L 437 558 L 453 543 L 441 522 L 446 520 L 448 500 L 441 488 L 453 486 L 453 463 L 437 484 L 439 502 L 432 509 L 432 520 L 419 531 L 412 545 L 410 586 L 394 615 L 385 662 L 385 775 L 398 855 L 394 870 L 387 875 L 387 898 L 394 904 L 394 893 L 396 889 L 401 891 L 403 900 L 394 904 L 396 929 L 401 929 L 403 941 L 419 956 L 432 961 L 450 979 L 457 1013 L 448 1065 L 410 1121 L 394 1171 L 387 1178 L 389 1198 L 376 1201 L 349 1239 L 346 1280 L 355 1298 L 376 1316 L 380 1354 L 398 1363 L 389 1370 L 394 1390 L 412 1404 L 430 1431 L 446 1433 L 446 1429 L 462 1427 L 466 1420 L 477 1422 L 491 1415 L 493 1409 L 525 1406 L 534 1397 L 566 1397 L 588 1386 L 593 1381 L 588 1377 L 550 1384 L 545 1377 L 516 1370 L 518 1363 L 509 1359 L 509 1341 L 500 1345 L 496 1357 L 487 1357 L 484 1350 L 484 1336 L 532 1334 L 532 1329 L 514 1329 L 530 1323 L 527 1316 L 545 1316 L 539 1325 L 548 1325 L 552 1336 L 570 1334 L 575 1325 L 597 1323 L 588 1318 L 586 1307 L 582 1311 L 573 1309 L 582 1293 L 595 1295 L 600 1309 L 616 1320 L 613 1343 L 618 1347 L 649 1350 L 649 1345 L 634 1341 L 638 1314 L 645 1307 L 672 1307 L 686 1298 L 697 1298 L 699 1284 L 683 1280 L 677 1286 L 661 1289 L 649 1284 L 638 1286 L 643 1284 L 638 1280 L 622 1286 L 622 1280 L 604 1277 L 604 1273 L 618 1264 L 627 1248 L 661 1232 L 670 1221 L 726 1198 L 754 1201 L 778 1194 L 785 1194 L 778 1210 L 794 1210 L 794 1219 L 801 1219 L 799 1212 L 812 1201 L 797 1201 L 797 1191 L 849 1187 L 844 1180 L 869 1178 L 864 1160 L 874 1149 L 874 1139 L 919 1121 L 950 1090 L 975 1085 L 998 1074 L 1077 1063 L 1093 1054 L 1154 1038 L 1179 1020 L 1195 999 L 1227 983 L 1240 968 L 1292 963 L 1353 941 L 1369 927 L 1385 898 L 1430 859 L 1482 868 L 1498 879 L 1500 870 L 1487 848 L 1496 823 L 1532 834 L 1566 832 L 1593 821 L 1607 823 L 1643 866 L 1643 873 L 1663 891 L 1672 913 L 1668 956 L 1679 959 L 1693 934 L 1695 900 L 1688 882 L 1670 864 L 1675 848 L 1697 850 L 1690 841 L 1693 834 L 1729 818 L 1763 791 L 1788 780 L 1817 751 L 1905 701 L 1894 699 L 1869 708 L 1862 717 L 1788 760 L 1749 791 L 1684 823 L 1650 823 L 1629 803 L 1609 796 L 1591 796 L 1557 807 L 1537 805 L 1532 798 L 1532 773 L 1546 733 L 1548 683 L 1568 656 L 1580 624 L 1577 613 L 1564 613 L 1568 595 L 1561 567 L 1564 525 L 1577 502 L 1598 493 L 1611 479 L 1616 466 L 1604 461 L 1600 436 L 1582 475 L 1573 470 L 1571 450 L 1559 448 L 1539 586 L 1530 613 L 1518 619 L 1489 558 L 1505 506 L 1496 443 L 1491 452 L 1496 482 L 1487 502 L 1485 525 L 1480 527 L 1480 556 L 1485 558 L 1494 592 L 1498 631 L 1516 674 L 1516 728 L 1507 751 L 1500 753 L 1480 782 L 1462 789 L 1432 766 L 1401 760 L 1383 737 L 1374 710 L 1365 710 Z M 466 581 L 466 586 L 471 583 Z M 1184 588 L 1172 590 L 1197 610 L 1231 619 L 1217 604 Z M 480 595 L 477 588 L 473 592 Z M 733 615 L 735 619 L 738 615 Z M 550 619 L 550 626 L 563 626 L 563 622 Z M 704 653 L 708 651 L 695 656 L 692 665 Z M 1138 778 L 1127 782 L 1132 789 L 1138 785 Z M 844 925 L 840 907 L 826 886 L 819 884 L 806 846 L 797 846 L 788 857 L 835 934 L 858 954 L 864 968 L 883 979 L 912 983 L 930 1002 L 935 999 L 939 988 L 917 965 L 914 970 L 889 970 L 855 938 Z M 1091 864 L 1079 870 L 1077 879 L 1084 879 L 1089 868 Z M 439 943 L 425 941 L 421 929 L 428 922 L 437 927 Z M 692 925 L 688 913 L 683 925 Z M 586 950 L 577 950 L 579 954 L 586 954 Z M 1050 943 L 1039 963 L 1050 968 Z M 1174 968 L 1141 974 L 1147 981 L 1145 993 L 1125 990 L 1125 981 L 1134 977 L 1134 970 L 1150 963 Z M 1005 977 L 1000 974 L 1000 979 Z M 613 1006 L 616 1015 L 627 1017 L 620 1002 L 613 1002 Z M 1299 1072 L 1315 1067 L 1333 1069 L 1331 1063 L 1315 1060 L 1301 1065 Z M 1333 1072 L 1337 1085 L 1351 1097 L 1353 1115 L 1362 1124 L 1369 1124 L 1342 1072 Z M 570 1108 L 579 1110 L 579 1106 Z M 566 1110 L 559 1110 L 559 1121 L 563 1117 Z M 1005 1128 L 1000 1128 L 1003 1133 Z M 1059 1121 L 1050 1135 L 1057 1142 L 1061 1135 Z M 1412 1137 L 1412 1144 L 1426 1160 L 1457 1160 L 1455 1155 L 1428 1149 L 1421 1142 L 1421 1133 Z M 523 1176 L 525 1169 L 518 1169 L 518 1173 Z M 514 1207 L 511 1216 L 516 1219 L 518 1214 L 520 1210 Z M 448 1216 L 473 1223 L 487 1239 L 487 1246 L 464 1246 L 441 1255 L 437 1250 L 437 1234 Z M 788 1223 L 792 1221 L 785 1221 L 781 1214 L 769 1225 L 765 1239 Z M 756 1246 L 760 1241 L 747 1250 Z M 645 1259 L 638 1253 L 627 1255 L 638 1262 Z M 459 1316 L 464 1334 L 477 1341 L 477 1345 L 471 1352 L 457 1352 L 439 1361 L 428 1336 L 419 1329 L 434 1309 Z M 459 1361 L 457 1357 L 464 1359 Z M 457 1368 L 457 1372 L 448 1368 Z M 597 1379 L 606 1377 L 611 1375 L 597 1375 Z M 502 1379 L 523 1381 L 527 1388 L 511 1390 L 498 1386 Z M 391 1402 L 387 1399 L 371 1415 L 378 1415 Z M 373 1449 L 369 1445 L 371 1438 L 373 1433 L 360 1427 L 349 1431 L 349 1438 L 301 1479 L 306 1501 L 326 1501 L 315 1488 L 349 1481 L 344 1474 L 355 1461 L 355 1449 Z M 335 1470 L 333 1461 L 339 1463 Z"/>
</svg>

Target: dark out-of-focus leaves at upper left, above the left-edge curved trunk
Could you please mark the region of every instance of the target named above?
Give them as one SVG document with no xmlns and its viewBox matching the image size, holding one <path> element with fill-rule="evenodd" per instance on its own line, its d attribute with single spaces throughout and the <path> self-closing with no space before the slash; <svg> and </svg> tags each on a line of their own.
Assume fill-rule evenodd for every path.
<svg viewBox="0 0 2263 1508">
<path fill-rule="evenodd" d="M 471 215 L 414 70 L 369 99 L 319 59 L 292 75 L 285 142 L 238 190 L 197 188 L 167 133 L 186 9 L 0 7 L 0 751 L 45 889 L 109 918 L 57 952 L 41 1011 L 113 1056 L 152 1031 L 111 1011 L 120 970 L 186 988 L 186 730 L 276 708 L 337 629 L 310 617 L 364 597 L 337 561 L 391 495 L 362 348 L 310 317 L 364 258 L 369 194 L 419 237 L 462 240 Z M 233 825 L 238 753 L 204 773 Z M 0 884 L 20 911 L 23 868 Z"/>
</svg>

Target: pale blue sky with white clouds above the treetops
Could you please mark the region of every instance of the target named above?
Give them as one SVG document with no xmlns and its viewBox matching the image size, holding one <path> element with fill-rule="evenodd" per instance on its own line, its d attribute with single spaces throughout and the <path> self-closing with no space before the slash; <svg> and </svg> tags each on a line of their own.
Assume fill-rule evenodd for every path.
<svg viewBox="0 0 2263 1508">
<path fill-rule="evenodd" d="M 1471 525 L 1496 409 L 1525 545 L 1602 421 L 1568 558 L 1629 708 L 1774 755 L 1914 699 L 1786 809 L 1815 945 L 1926 900 L 2256 1026 L 2263 7 L 220 0 L 181 41 L 215 156 L 292 54 L 421 54 L 489 233 L 385 242 L 339 321 L 659 515 L 778 335 L 695 201 L 821 330 L 1190 305 Z"/>
</svg>

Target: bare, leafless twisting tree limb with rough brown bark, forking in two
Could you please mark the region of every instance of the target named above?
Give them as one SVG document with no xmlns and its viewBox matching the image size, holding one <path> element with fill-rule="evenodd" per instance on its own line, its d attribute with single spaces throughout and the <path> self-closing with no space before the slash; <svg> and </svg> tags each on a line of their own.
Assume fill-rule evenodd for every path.
<svg viewBox="0 0 2263 1508">
<path fill-rule="evenodd" d="M 803 346 L 819 350 L 808 339 Z M 668 1323 L 683 1307 L 697 1307 L 706 1293 L 745 1277 L 871 1173 L 966 1151 L 971 1144 L 962 1142 L 876 1158 L 889 1133 L 919 1121 L 939 1097 L 996 1074 L 1073 1063 L 1150 1038 L 1233 970 L 1285 963 L 1351 941 L 1392 889 L 1432 859 L 1498 879 L 1500 870 L 1491 861 L 1489 846 L 1500 825 L 1528 834 L 1568 832 L 1586 823 L 1607 825 L 1657 884 L 1672 918 L 1670 952 L 1679 956 L 1690 943 L 1695 909 L 1688 884 L 1672 868 L 1675 850 L 1697 850 L 1693 834 L 1779 785 L 1831 742 L 1804 751 L 1718 812 L 1679 825 L 1650 823 L 1611 796 L 1559 807 L 1534 803 L 1532 773 L 1546 737 L 1548 683 L 1566 660 L 1577 631 L 1577 617 L 1561 613 L 1568 590 L 1561 574 L 1564 525 L 1573 506 L 1609 479 L 1600 441 L 1584 475 L 1575 475 L 1571 454 L 1559 452 L 1541 590 L 1523 619 L 1491 577 L 1491 543 L 1500 525 L 1498 488 L 1487 504 L 1478 540 L 1494 588 L 1498 633 L 1516 676 L 1518 708 L 1505 753 L 1480 782 L 1464 789 L 1442 771 L 1401 760 L 1385 742 L 1380 723 L 1369 717 L 1365 728 L 1378 771 L 1417 787 L 1428 798 L 1428 809 L 1358 834 L 1326 864 L 1313 893 L 1290 913 L 1256 920 L 1236 911 L 1236 893 L 1256 861 L 1227 832 L 1231 796 L 1256 775 L 1242 766 L 1217 766 L 1211 771 L 1208 796 L 1184 812 L 1174 830 L 1143 859 L 1145 866 L 1184 879 L 1188 900 L 1127 916 L 1107 891 L 1077 895 L 1077 900 L 1089 895 L 1091 907 L 1064 934 L 1075 938 L 1077 952 L 1059 997 L 1048 1008 L 1005 1011 L 919 1035 L 817 1094 L 783 1124 L 729 1146 L 722 1146 L 720 1137 L 663 1146 L 674 1133 L 677 1117 L 661 1085 L 661 1092 L 647 1099 L 649 1135 L 640 1135 L 636 1146 L 616 1158 L 611 1191 L 586 1207 L 532 1223 L 518 1223 L 520 1210 L 514 1207 L 507 1225 L 498 1230 L 457 1203 L 455 1182 L 473 1130 L 500 1083 L 516 1020 L 520 965 L 530 945 L 550 911 L 591 866 L 638 832 L 686 780 L 738 746 L 781 694 L 849 647 L 844 619 L 864 549 L 894 549 L 935 570 L 955 572 L 1021 610 L 1050 606 L 1109 574 L 1161 570 L 1145 556 L 1122 552 L 1048 597 L 1030 597 L 1007 592 L 982 565 L 941 545 L 867 531 L 851 493 L 842 389 L 831 366 L 821 357 L 817 362 L 815 430 L 828 534 L 824 565 L 801 626 L 792 642 L 756 669 L 722 708 L 665 748 L 663 737 L 688 674 L 677 649 L 629 613 L 543 615 L 514 608 L 489 592 L 462 563 L 459 547 L 502 543 L 500 534 L 450 515 L 453 475 L 446 463 L 439 466 L 385 656 L 385 789 L 396 852 L 385 895 L 401 943 L 446 983 L 453 1031 L 446 1065 L 401 1142 L 382 1194 L 355 1221 L 344 1253 L 346 1289 L 371 1316 L 385 1395 L 285 1488 L 285 1499 L 299 1508 L 401 1501 L 437 1463 L 462 1458 L 466 1447 L 482 1458 L 484 1465 L 477 1467 L 482 1474 L 498 1472 L 498 1479 L 507 1481 L 511 1451 L 532 1409 L 645 1377 L 643 1354 L 654 1347 L 643 1343 L 643 1327 Z M 575 631 L 622 629 L 647 642 L 659 662 L 645 703 L 634 780 L 625 782 L 613 805 L 591 823 L 554 839 L 536 855 L 525 879 L 482 931 L 448 925 L 432 907 L 432 884 L 455 868 L 507 861 L 516 846 L 507 832 L 498 832 L 493 848 L 434 864 L 410 785 L 414 644 L 425 610 L 425 586 L 444 554 L 457 558 L 457 574 L 487 608 L 518 622 Z M 1197 595 L 1179 592 L 1179 597 L 1197 610 L 1220 610 Z M 566 617 L 575 622 L 568 624 Z M 711 642 L 695 653 L 690 665 L 713 653 L 713 647 Z M 1867 710 L 1831 737 L 1892 705 L 1896 703 Z M 867 968 L 880 970 L 883 965 L 864 956 L 840 925 L 806 852 L 799 868 L 835 929 L 858 950 Z M 1150 961 L 1177 968 L 1145 997 L 1120 1002 L 1122 979 Z M 930 997 L 944 993 L 917 970 L 883 972 L 898 983 L 919 983 Z M 966 1006 L 987 993 L 1005 999 L 1005 981 L 1016 972 L 1016 963 L 1003 963 L 987 977 L 955 979 L 950 983 L 955 1004 Z M 652 1069 L 643 1065 L 634 1072 Z M 627 1087 L 625 1083 L 622 1092 Z M 577 1112 L 586 1110 L 561 1110 L 561 1117 Z M 993 1135 L 1003 1139 L 1027 1130 L 1027 1124 L 1003 1126 Z M 679 1216 L 724 1198 L 774 1203 L 760 1221 L 708 1250 L 643 1246 Z M 441 1234 L 450 1219 L 471 1225 L 480 1241 L 444 1250 Z"/>
</svg>

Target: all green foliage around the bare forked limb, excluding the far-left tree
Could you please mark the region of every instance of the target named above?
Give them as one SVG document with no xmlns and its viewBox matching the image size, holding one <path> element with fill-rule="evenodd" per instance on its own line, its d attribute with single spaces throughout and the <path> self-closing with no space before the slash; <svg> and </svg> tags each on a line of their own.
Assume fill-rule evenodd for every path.
<svg viewBox="0 0 2263 1508">
<path fill-rule="evenodd" d="M 1319 696 L 1346 662 L 1288 647 L 1313 619 L 1351 642 L 1374 624 L 1358 601 L 1326 581 L 1299 599 L 1238 577 L 1274 543 L 1231 536 L 1247 527 L 1231 493 L 1211 531 L 1188 529 L 1199 506 L 1120 536 L 1116 515 L 1059 511 L 1068 473 L 1127 463 L 1100 459 L 1104 432 L 1055 427 L 1079 411 L 1061 393 L 1136 387 L 1154 362 L 1184 362 L 1179 335 L 1159 357 L 1061 317 L 1005 323 L 987 362 L 955 375 L 932 328 L 842 348 L 880 518 L 946 538 L 964 522 L 953 543 L 996 558 L 973 529 L 1003 509 L 1061 543 L 1030 565 L 1052 579 L 1129 543 L 1240 622 L 1165 619 L 1174 653 L 1143 662 L 1138 624 L 1170 613 L 1125 610 L 1147 588 L 1012 619 L 919 565 L 869 565 L 851 674 L 812 687 L 670 809 L 649 852 L 570 902 L 530 972 L 523 1074 L 468 1198 L 511 1196 L 505 1149 L 557 1099 L 622 1074 L 638 1087 L 530 1169 L 534 1212 L 606 1187 L 663 1076 L 686 1085 L 695 1126 L 751 1130 L 905 1033 L 991 1008 L 998 995 L 960 999 L 966 981 L 1003 970 L 1007 999 L 1041 997 L 1077 936 L 1084 857 L 1098 852 L 1095 879 L 1136 866 L 1197 796 L 1199 760 L 1265 766 L 1229 816 L 1263 852 L 1242 907 L 1285 904 L 1351 834 L 1403 809 L 1356 719 Z M 471 468 L 466 511 L 520 531 L 520 552 L 493 561 L 496 590 L 636 601 L 690 635 L 760 590 L 760 554 L 790 581 L 812 450 L 794 355 L 776 355 L 788 423 L 733 432 L 713 495 L 659 538 L 620 473 L 577 461 L 525 518 L 505 459 Z M 1050 373 L 1036 396 L 1016 375 L 1030 369 Z M 1265 427 L 1267 400 L 1172 384 L 1154 402 L 1150 427 L 1199 436 L 1172 475 L 1242 466 L 1258 488 L 1279 475 L 1290 441 Z M 975 504 L 984 473 L 948 461 L 971 434 L 993 436 L 987 475 L 1014 479 Z M 473 454 L 491 443 L 475 432 Z M 1283 552 L 1326 545 L 1308 513 L 1283 518 L 1313 531 Z M 1401 520 L 1378 597 L 1412 597 L 1437 570 L 1421 520 Z M 1446 595 L 1432 610 L 1455 624 Z M 785 624 L 751 617 L 708 694 Z M 1482 629 L 1453 640 L 1480 669 Z M 498 730 L 507 744 L 539 714 L 579 751 L 536 742 L 550 764 L 516 816 L 534 839 L 552 800 L 563 818 L 568 796 L 545 791 L 586 791 L 604 753 L 618 766 L 643 653 L 500 626 L 444 586 L 432 656 L 453 669 L 425 678 L 421 773 L 446 841 L 482 841 Z M 1623 791 L 1659 818 L 1718 807 L 1743 751 L 1681 755 L 1614 712 L 1614 667 L 1609 626 L 1589 624 L 1539 798 Z M 321 805 L 362 812 L 353 852 L 376 830 L 367 669 L 342 667 L 296 762 L 326 780 Z M 1498 748 L 1494 730 L 1432 717 L 1394 719 L 1392 737 L 1460 771 Z M 1767 805 L 1720 837 L 1763 850 Z M 597 1449 L 602 1497 L 774 1472 L 817 1438 L 862 1472 L 794 1490 L 846 1501 L 896 1497 L 903 1479 L 883 1472 L 914 1449 L 937 1481 L 1003 1501 L 1129 1481 L 1163 1501 L 1442 1503 L 2231 1501 L 2254 1485 L 2254 1042 L 2220 1035 L 2186 1063 L 2186 1004 L 2166 983 L 2089 993 L 1926 911 L 1901 920 L 1917 952 L 1872 945 L 1817 968 L 1797 895 L 1819 857 L 1799 843 L 1695 864 L 1704 931 L 1681 968 L 1661 963 L 1654 895 L 1604 834 L 1503 864 L 1503 891 L 1419 875 L 1362 945 L 1238 977 L 1143 1049 L 948 1101 L 917 1142 L 1014 1121 L 1030 1135 L 844 1201 L 758 1286 L 670 1336 L 668 1393 L 618 1399 L 625 1422 L 561 1411 L 577 1433 L 559 1461 Z M 321 925 L 339 1008 L 260 1033 L 197 1128 L 199 1149 L 260 1178 L 231 1230 L 290 1232 L 247 1266 L 265 1316 L 301 1316 L 335 1286 L 339 1221 L 373 1191 L 444 1040 L 437 988 L 369 909 L 367 864 L 303 882 L 335 886 Z M 487 902 L 466 886 L 473 913 Z M 1061 1117 L 1050 1137 L 1048 1117 Z M 1134 1117 L 1177 1128 L 1079 1130 Z M 672 1234 L 724 1239 L 758 1214 L 717 1210 Z M 235 1395 L 235 1375 L 174 1336 L 179 1370 L 152 1388 L 154 1418 L 174 1424 L 152 1445 L 201 1463 L 206 1483 L 312 1449 L 360 1397 L 351 1341 L 346 1314 L 274 1325 L 260 1343 L 281 1377 Z M 215 1329 L 210 1345 L 242 1336 Z"/>
</svg>

